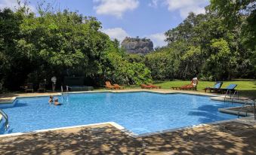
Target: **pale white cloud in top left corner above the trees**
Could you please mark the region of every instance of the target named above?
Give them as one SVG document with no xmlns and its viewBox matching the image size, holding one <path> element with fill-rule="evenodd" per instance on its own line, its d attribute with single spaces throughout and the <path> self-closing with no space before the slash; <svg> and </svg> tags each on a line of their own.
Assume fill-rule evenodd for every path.
<svg viewBox="0 0 256 155">
<path fill-rule="evenodd" d="M 24 1 L 21 1 L 20 3 L 21 6 L 24 5 Z M 30 11 L 35 11 L 35 7 L 33 7 L 32 5 L 26 4 L 28 5 Z M 18 4 L 17 4 L 17 0 L 0 0 L 0 9 L 3 8 L 11 8 L 11 10 L 15 10 L 15 8 L 18 8 Z"/>
</svg>

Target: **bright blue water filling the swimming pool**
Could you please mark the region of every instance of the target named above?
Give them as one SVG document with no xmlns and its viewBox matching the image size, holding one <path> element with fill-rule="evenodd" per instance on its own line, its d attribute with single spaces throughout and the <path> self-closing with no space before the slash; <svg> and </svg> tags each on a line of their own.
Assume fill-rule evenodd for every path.
<svg viewBox="0 0 256 155">
<path fill-rule="evenodd" d="M 49 105 L 48 97 L 17 99 L 14 107 L 3 108 L 10 128 L 1 134 L 110 121 L 143 134 L 233 119 L 235 115 L 217 109 L 239 105 L 184 94 L 86 93 L 58 98 L 63 105 Z"/>
</svg>

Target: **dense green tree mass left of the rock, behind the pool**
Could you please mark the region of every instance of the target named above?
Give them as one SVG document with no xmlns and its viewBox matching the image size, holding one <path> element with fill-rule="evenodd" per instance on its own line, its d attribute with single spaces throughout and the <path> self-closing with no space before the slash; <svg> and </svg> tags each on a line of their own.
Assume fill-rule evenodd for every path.
<svg viewBox="0 0 256 155">
<path fill-rule="evenodd" d="M 0 11 L 0 80 L 17 90 L 57 76 L 84 76 L 89 85 L 110 80 L 119 84 L 151 81 L 150 70 L 128 62 L 119 43 L 100 32 L 100 22 L 76 12 L 44 12 L 40 15 L 4 9 Z"/>
</svg>

